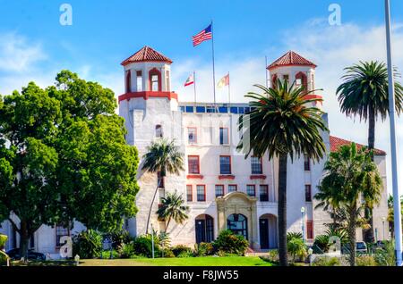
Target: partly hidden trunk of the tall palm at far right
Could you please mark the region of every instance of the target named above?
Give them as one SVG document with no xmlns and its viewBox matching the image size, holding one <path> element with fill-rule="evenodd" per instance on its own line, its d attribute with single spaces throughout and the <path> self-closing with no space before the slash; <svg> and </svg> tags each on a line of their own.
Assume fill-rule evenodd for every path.
<svg viewBox="0 0 403 284">
<path fill-rule="evenodd" d="M 373 150 L 375 148 L 375 112 L 371 104 L 368 110 L 368 122 L 368 148 Z M 373 155 L 371 160 L 373 161 Z M 366 243 L 373 243 L 375 239 L 373 237 L 373 209 L 371 207 L 365 205 L 364 217 L 370 225 L 369 229 L 363 230 L 364 241 Z"/>
</svg>

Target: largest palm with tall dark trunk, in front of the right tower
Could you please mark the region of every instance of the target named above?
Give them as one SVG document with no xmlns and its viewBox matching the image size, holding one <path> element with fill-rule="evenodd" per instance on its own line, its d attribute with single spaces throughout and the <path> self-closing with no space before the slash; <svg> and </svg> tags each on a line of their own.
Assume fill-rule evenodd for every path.
<svg viewBox="0 0 403 284">
<path fill-rule="evenodd" d="M 248 93 L 252 98 L 251 113 L 242 115 L 238 121 L 239 129 L 245 129 L 238 150 L 245 157 L 262 157 L 266 152 L 270 159 L 279 157 L 279 260 L 287 266 L 287 159 L 307 155 L 319 161 L 325 153 L 321 132 L 327 131 L 322 120 L 322 111 L 310 104 L 321 99 L 308 99 L 312 92 L 304 87 L 291 86 L 287 80 L 277 82 L 276 88 L 260 88 L 263 95 Z"/>
</svg>

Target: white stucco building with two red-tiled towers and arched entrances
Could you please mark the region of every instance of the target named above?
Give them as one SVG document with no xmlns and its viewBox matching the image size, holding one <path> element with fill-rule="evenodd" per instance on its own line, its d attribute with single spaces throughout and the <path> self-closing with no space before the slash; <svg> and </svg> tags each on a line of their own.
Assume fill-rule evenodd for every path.
<svg viewBox="0 0 403 284">
<path fill-rule="evenodd" d="M 241 114 L 248 113 L 248 104 L 195 104 L 182 103 L 171 90 L 172 61 L 145 46 L 124 60 L 125 93 L 118 97 L 119 114 L 124 117 L 127 129 L 126 141 L 136 146 L 140 157 L 147 146 L 156 139 L 175 139 L 184 153 L 185 171 L 179 175 L 167 174 L 159 188 L 152 208 L 150 224 L 154 230 L 166 230 L 165 221 L 159 221 L 156 211 L 159 198 L 167 192 L 177 191 L 184 196 L 190 207 L 189 219 L 184 224 L 171 222 L 167 231 L 172 244 L 193 246 L 194 243 L 211 241 L 220 230 L 231 229 L 247 238 L 253 249 L 269 249 L 278 245 L 277 239 L 277 177 L 278 161 L 244 159 L 236 151 L 241 134 L 237 121 Z M 270 80 L 296 80 L 308 90 L 315 88 L 316 65 L 299 54 L 288 52 L 270 64 Z M 311 97 L 320 95 L 310 95 Z M 322 107 L 322 104 L 317 105 Z M 323 116 L 328 120 L 327 114 Z M 330 137 L 327 132 L 322 138 L 328 153 L 339 146 L 351 143 Z M 374 209 L 374 230 L 377 239 L 388 238 L 387 190 L 385 153 L 377 150 L 375 162 L 384 181 L 381 204 Z M 306 158 L 288 161 L 287 164 L 287 230 L 301 232 L 308 241 L 322 234 L 330 222 L 328 213 L 314 209 L 317 186 L 322 179 L 323 164 L 313 163 Z M 147 216 L 158 175 L 141 171 L 138 182 L 140 191 L 136 204 L 136 217 L 125 222 L 133 236 L 144 234 Z M 304 215 L 301 208 L 305 208 Z M 73 229 L 42 226 L 31 240 L 31 247 L 43 253 L 57 254 L 58 239 L 72 235 L 84 227 L 74 222 Z M 357 230 L 361 238 L 361 230 Z M 18 234 L 11 224 L 4 221 L 0 233 L 9 236 L 7 249 L 18 246 Z M 386 233 L 387 234 L 387 233 Z"/>
</svg>

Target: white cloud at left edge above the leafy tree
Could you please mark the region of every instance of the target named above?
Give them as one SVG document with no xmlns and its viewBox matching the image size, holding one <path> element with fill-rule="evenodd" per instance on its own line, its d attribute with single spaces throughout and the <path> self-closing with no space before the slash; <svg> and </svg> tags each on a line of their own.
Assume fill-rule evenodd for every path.
<svg viewBox="0 0 403 284">
<path fill-rule="evenodd" d="M 46 59 L 40 43 L 16 33 L 0 35 L 0 71 L 28 71 L 34 63 Z"/>
</svg>

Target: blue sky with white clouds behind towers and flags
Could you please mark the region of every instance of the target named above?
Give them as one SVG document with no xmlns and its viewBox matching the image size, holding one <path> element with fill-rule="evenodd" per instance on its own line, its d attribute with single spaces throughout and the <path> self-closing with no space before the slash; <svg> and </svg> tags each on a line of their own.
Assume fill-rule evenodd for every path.
<svg viewBox="0 0 403 284">
<path fill-rule="evenodd" d="M 403 1 L 390 1 L 394 63 L 403 71 Z M 59 23 L 64 3 L 73 7 L 72 26 Z M 328 21 L 333 3 L 341 7 L 340 26 Z M 148 45 L 174 61 L 172 85 L 180 100 L 193 100 L 193 88 L 183 83 L 195 70 L 198 99 L 212 101 L 210 43 L 192 45 L 192 36 L 211 19 L 217 78 L 231 72 L 231 101 L 244 102 L 253 84 L 264 83 L 265 55 L 273 61 L 293 49 L 318 65 L 316 87 L 324 89 L 331 134 L 366 143 L 366 125 L 339 113 L 335 90 L 344 67 L 385 60 L 383 0 L 0 0 L 0 94 L 30 80 L 46 87 L 57 71 L 69 69 L 117 96 L 124 89 L 120 63 Z M 227 101 L 225 91 L 218 101 Z M 398 128 L 401 145 L 401 119 Z M 376 133 L 376 146 L 390 152 L 388 121 Z M 388 171 L 389 164 L 388 157 Z"/>
</svg>

